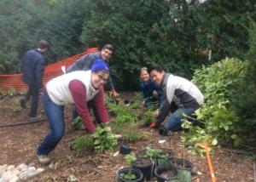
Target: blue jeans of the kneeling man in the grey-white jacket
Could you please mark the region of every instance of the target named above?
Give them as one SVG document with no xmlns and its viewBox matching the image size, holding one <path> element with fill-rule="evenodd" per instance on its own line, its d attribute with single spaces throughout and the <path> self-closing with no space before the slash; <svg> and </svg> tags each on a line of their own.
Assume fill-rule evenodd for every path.
<svg viewBox="0 0 256 182">
<path fill-rule="evenodd" d="M 198 107 L 183 108 L 179 107 L 176 111 L 172 113 L 170 117 L 164 122 L 164 128 L 168 131 L 176 132 L 182 130 L 182 119 L 183 114 L 190 116 L 195 112 Z"/>
</svg>

